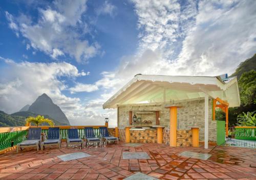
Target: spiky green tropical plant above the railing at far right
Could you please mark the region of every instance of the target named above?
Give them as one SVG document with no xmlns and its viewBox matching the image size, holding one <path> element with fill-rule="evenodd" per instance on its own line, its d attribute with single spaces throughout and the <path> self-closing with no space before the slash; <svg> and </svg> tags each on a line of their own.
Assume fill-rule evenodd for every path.
<svg viewBox="0 0 256 180">
<path fill-rule="evenodd" d="M 247 112 L 242 115 L 238 115 L 238 125 L 239 126 L 256 126 L 256 111 Z"/>
</svg>

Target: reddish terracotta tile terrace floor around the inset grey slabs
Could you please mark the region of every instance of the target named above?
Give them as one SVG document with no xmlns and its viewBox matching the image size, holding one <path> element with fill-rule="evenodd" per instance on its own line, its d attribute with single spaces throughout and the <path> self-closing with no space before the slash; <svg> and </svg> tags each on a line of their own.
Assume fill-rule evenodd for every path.
<svg viewBox="0 0 256 180">
<path fill-rule="evenodd" d="M 160 144 L 102 148 L 27 148 L 0 155 L 0 179 L 123 179 L 140 171 L 159 179 L 256 179 L 256 149 L 210 146 L 172 148 Z M 146 152 L 150 160 L 123 160 L 122 152 Z M 207 160 L 185 158 L 183 151 L 209 153 Z M 63 162 L 57 155 L 86 152 L 88 158 Z"/>
</svg>

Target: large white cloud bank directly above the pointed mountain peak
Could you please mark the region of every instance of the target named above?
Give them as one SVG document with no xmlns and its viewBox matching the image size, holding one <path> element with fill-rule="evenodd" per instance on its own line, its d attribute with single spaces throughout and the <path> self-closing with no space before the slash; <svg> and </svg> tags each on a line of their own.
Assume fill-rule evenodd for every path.
<svg viewBox="0 0 256 180">
<path fill-rule="evenodd" d="M 62 94 L 67 88 L 60 77 L 76 78 L 84 76 L 77 68 L 66 62 L 39 63 L 23 61 L 16 63 L 0 57 L 6 65 L 0 68 L 0 109 L 14 113 L 26 104 L 46 93 L 54 103 L 60 106 L 68 118 L 83 107 L 79 98 L 70 98 Z"/>
</svg>

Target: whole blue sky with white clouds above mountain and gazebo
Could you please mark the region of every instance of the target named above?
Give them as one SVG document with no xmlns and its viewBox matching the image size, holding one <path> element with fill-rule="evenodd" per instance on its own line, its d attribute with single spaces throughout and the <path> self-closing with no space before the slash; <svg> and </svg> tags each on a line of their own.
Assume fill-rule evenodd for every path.
<svg viewBox="0 0 256 180">
<path fill-rule="evenodd" d="M 256 53 L 256 1 L 1 1 L 0 110 L 42 93 L 72 125 L 116 123 L 102 104 L 134 75 L 231 74 Z"/>
</svg>

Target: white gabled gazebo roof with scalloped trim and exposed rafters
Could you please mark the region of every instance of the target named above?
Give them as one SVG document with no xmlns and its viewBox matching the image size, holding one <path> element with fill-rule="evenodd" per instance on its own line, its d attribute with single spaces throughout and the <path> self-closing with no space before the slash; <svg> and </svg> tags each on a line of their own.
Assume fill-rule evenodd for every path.
<svg viewBox="0 0 256 180">
<path fill-rule="evenodd" d="M 170 102 L 219 97 L 229 107 L 240 106 L 237 77 L 136 75 L 103 104 L 116 108 L 123 104 Z"/>
</svg>

